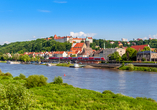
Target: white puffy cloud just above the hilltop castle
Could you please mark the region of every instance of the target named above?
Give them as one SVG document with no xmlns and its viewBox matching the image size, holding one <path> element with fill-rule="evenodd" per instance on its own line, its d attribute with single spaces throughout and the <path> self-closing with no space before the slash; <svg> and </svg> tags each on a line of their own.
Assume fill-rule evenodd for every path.
<svg viewBox="0 0 157 110">
<path fill-rule="evenodd" d="M 82 31 L 78 32 L 78 33 L 74 33 L 74 32 L 70 32 L 70 36 L 73 36 L 73 37 L 93 37 L 95 36 L 96 33 L 84 33 Z"/>
</svg>

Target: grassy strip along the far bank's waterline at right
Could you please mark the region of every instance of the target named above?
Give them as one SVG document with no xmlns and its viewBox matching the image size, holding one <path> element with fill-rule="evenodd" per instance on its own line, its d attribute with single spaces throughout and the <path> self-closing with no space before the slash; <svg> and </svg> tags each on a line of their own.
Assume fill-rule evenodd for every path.
<svg viewBox="0 0 157 110">
<path fill-rule="evenodd" d="M 148 72 L 157 72 L 155 67 L 138 67 L 134 65 L 121 66 L 120 70 L 131 70 L 131 71 L 148 71 Z"/>
</svg>

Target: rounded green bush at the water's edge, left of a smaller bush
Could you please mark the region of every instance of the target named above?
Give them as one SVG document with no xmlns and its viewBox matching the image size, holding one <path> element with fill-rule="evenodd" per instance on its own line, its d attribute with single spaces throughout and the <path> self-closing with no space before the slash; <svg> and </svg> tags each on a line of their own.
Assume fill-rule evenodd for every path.
<svg viewBox="0 0 157 110">
<path fill-rule="evenodd" d="M 31 75 L 26 79 L 27 88 L 41 87 L 47 84 L 47 77 L 44 75 Z"/>
</svg>

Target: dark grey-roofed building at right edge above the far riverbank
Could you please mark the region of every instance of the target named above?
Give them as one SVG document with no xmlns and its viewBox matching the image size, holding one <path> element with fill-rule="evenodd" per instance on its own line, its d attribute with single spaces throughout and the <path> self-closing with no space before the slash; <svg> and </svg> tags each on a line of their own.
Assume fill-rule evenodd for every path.
<svg viewBox="0 0 157 110">
<path fill-rule="evenodd" d="M 152 51 L 143 51 L 143 52 L 138 52 L 136 56 L 137 61 L 142 61 L 143 58 L 146 61 L 157 61 L 157 53 L 152 52 Z"/>
</svg>

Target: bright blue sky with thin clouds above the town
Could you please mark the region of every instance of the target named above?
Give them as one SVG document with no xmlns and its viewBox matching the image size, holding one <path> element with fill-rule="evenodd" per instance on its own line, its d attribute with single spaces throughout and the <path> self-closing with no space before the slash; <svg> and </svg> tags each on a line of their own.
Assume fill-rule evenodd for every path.
<svg viewBox="0 0 157 110">
<path fill-rule="evenodd" d="M 54 34 L 157 38 L 157 0 L 0 0 L 0 44 Z"/>
</svg>

